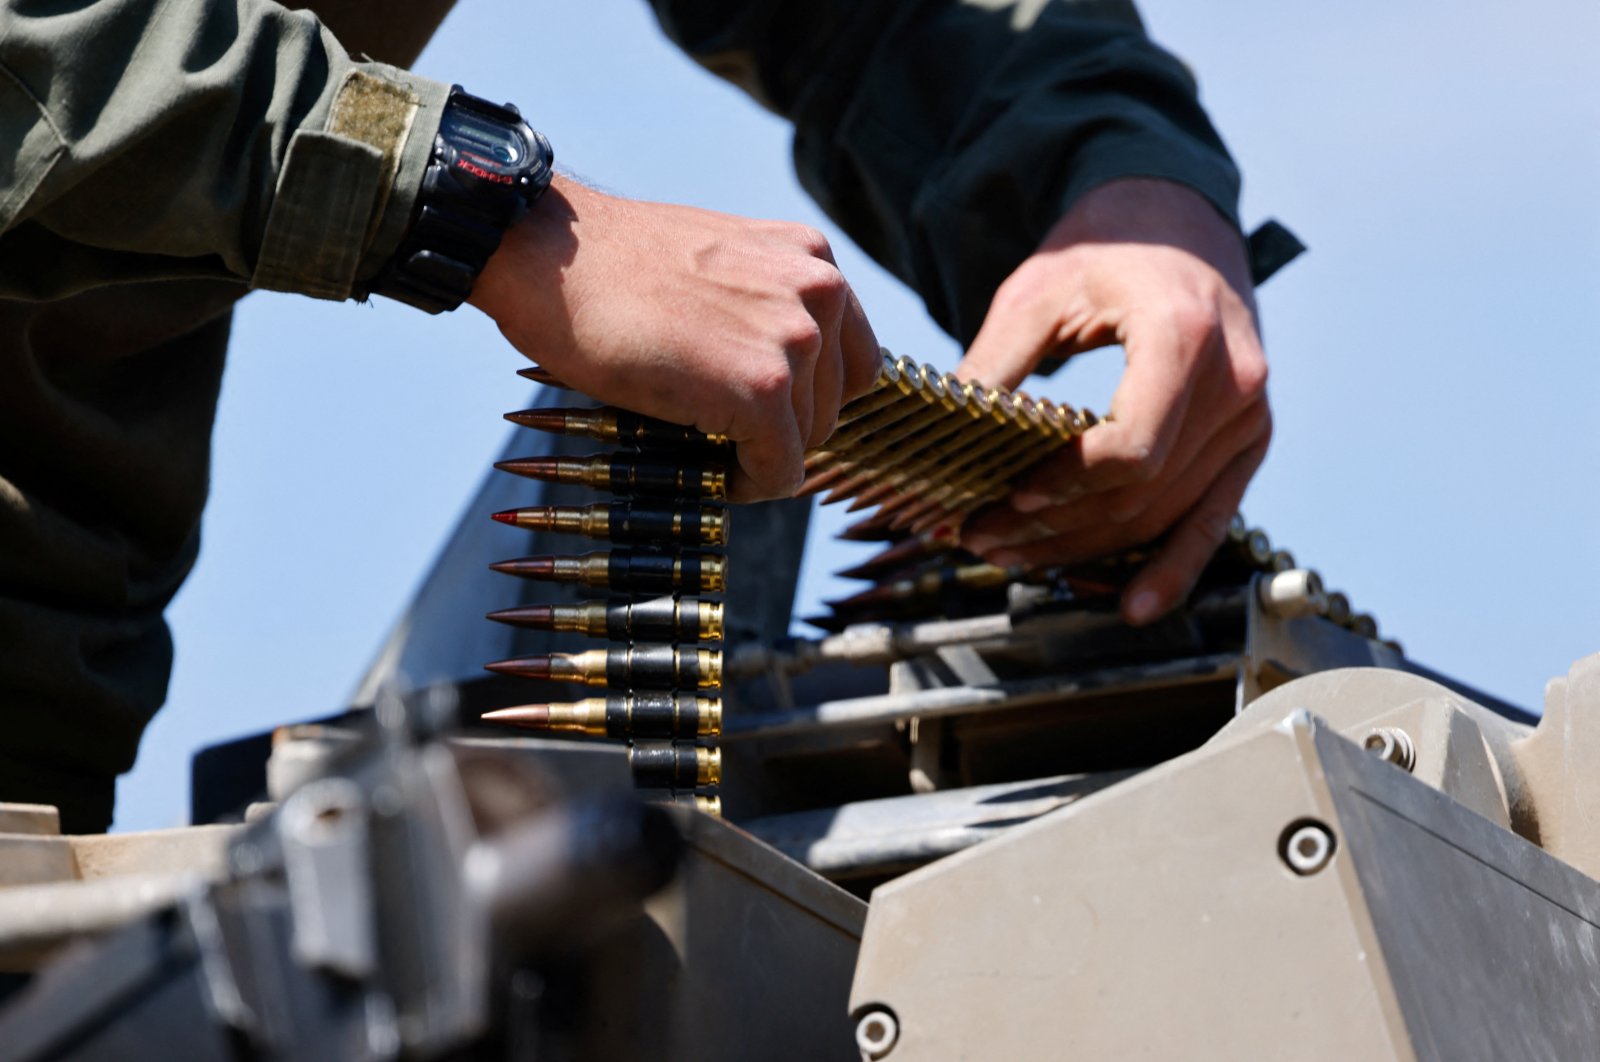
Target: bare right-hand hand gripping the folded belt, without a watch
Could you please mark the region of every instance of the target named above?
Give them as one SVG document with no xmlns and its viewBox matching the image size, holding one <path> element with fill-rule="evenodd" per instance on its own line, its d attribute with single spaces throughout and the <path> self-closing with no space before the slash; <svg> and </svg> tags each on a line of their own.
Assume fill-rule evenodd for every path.
<svg viewBox="0 0 1600 1062">
<path fill-rule="evenodd" d="M 963 545 L 1051 565 L 1165 533 L 1122 611 L 1144 624 L 1179 605 L 1272 435 L 1254 313 L 1243 242 L 1198 194 L 1154 179 L 1086 194 L 995 293 L 957 376 L 1016 387 L 1048 355 L 1120 342 L 1112 421 L 971 520 Z"/>
</svg>

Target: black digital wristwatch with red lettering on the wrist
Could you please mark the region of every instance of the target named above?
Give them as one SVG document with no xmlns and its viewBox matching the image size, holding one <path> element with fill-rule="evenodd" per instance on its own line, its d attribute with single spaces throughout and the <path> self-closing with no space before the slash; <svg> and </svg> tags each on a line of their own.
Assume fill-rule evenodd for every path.
<svg viewBox="0 0 1600 1062">
<path fill-rule="evenodd" d="M 419 310 L 453 310 L 512 222 L 550 187 L 555 152 L 510 104 L 451 86 L 411 227 L 371 285 Z"/>
</svg>

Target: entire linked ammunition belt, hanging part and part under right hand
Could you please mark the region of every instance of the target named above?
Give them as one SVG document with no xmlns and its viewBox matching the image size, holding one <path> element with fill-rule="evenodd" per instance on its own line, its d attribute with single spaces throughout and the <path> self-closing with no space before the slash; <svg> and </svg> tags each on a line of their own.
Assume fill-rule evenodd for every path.
<svg viewBox="0 0 1600 1062">
<path fill-rule="evenodd" d="M 541 368 L 526 379 L 565 387 Z M 507 414 L 525 427 L 586 435 L 621 449 L 582 459 L 526 457 L 496 465 L 555 483 L 579 483 L 616 494 L 581 509 L 518 509 L 496 520 L 536 531 L 565 531 L 619 544 L 584 557 L 530 557 L 499 561 L 496 571 L 619 592 L 608 601 L 531 606 L 493 619 L 542 630 L 608 638 L 618 646 L 499 661 L 490 670 L 610 688 L 576 704 L 526 705 L 485 718 L 582 734 L 626 737 L 640 785 L 669 789 L 702 808 L 718 808 L 706 790 L 720 781 L 720 755 L 709 744 L 720 733 L 722 651 L 698 643 L 722 638 L 728 513 L 728 440 L 626 409 L 530 409 Z M 1115 595 L 1158 544 L 1088 565 L 998 568 L 958 545 L 968 513 L 1000 501 L 1026 472 L 1070 445 L 1098 422 L 1022 392 L 986 389 L 938 373 L 910 358 L 883 355 L 874 387 L 845 405 L 838 427 L 806 454 L 802 493 L 827 491 L 824 504 L 853 501 L 875 512 L 846 528 L 848 541 L 885 541 L 877 557 L 838 573 L 872 581 L 853 597 L 829 601 L 827 616 L 806 622 L 842 630 L 856 622 L 914 621 L 934 614 L 976 614 L 1005 606 L 1010 587 L 1093 600 Z M 1227 541 L 1202 574 L 1240 582 L 1253 574 L 1301 571 L 1288 550 L 1235 515 Z M 1349 598 L 1328 593 L 1306 569 L 1296 593 L 1317 613 L 1362 637 L 1378 638 L 1371 616 Z M 656 597 L 646 597 L 656 595 Z M 995 600 L 1000 595 L 1000 600 Z M 1395 643 L 1387 643 L 1398 649 Z"/>
</svg>

